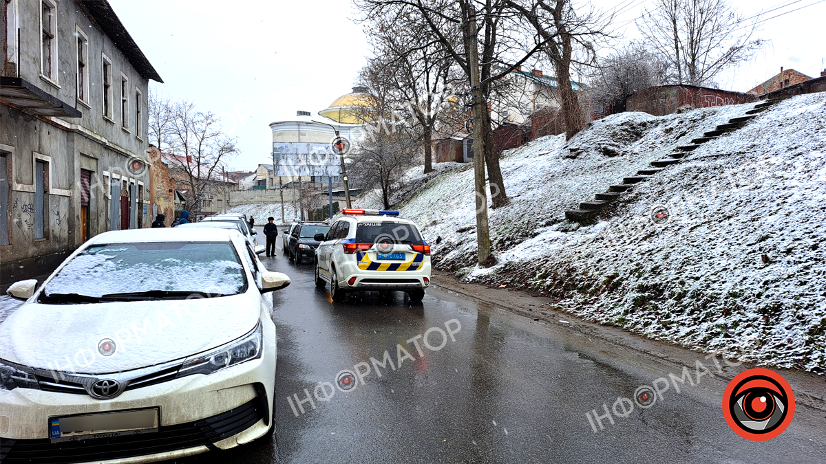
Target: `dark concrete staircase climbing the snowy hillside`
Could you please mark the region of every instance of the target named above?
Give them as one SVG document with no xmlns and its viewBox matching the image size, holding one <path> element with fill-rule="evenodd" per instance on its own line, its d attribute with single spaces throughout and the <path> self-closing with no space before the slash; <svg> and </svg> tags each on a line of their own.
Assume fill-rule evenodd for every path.
<svg viewBox="0 0 826 464">
<path fill-rule="evenodd" d="M 671 154 L 668 154 L 667 158 L 652 161 L 651 168 L 640 169 L 636 174 L 623 178 L 623 182 L 621 184 L 609 186 L 608 192 L 597 193 L 594 196 L 594 200 L 582 201 L 582 203 L 579 204 L 579 209 L 565 211 L 565 219 L 572 220 L 574 222 L 587 222 L 589 220 L 593 220 L 600 214 L 600 211 L 605 208 L 605 206 L 609 206 L 611 203 L 619 200 L 619 196 L 622 192 L 628 192 L 634 187 L 635 183 L 645 182 L 648 178 L 656 173 L 659 173 L 668 166 L 681 163 L 681 161 L 689 156 L 692 151 L 700 148 L 701 144 L 705 144 L 705 142 L 715 140 L 721 135 L 738 130 L 743 127 L 743 125 L 747 125 L 748 121 L 752 121 L 752 119 L 756 118 L 759 113 L 766 111 L 772 105 L 777 102 L 781 102 L 781 100 L 785 100 L 786 98 L 787 97 L 775 98 L 758 103 L 754 106 L 754 108 L 746 111 L 745 116 L 732 118 L 728 123 L 718 125 L 714 130 L 705 132 L 702 137 L 691 140 L 691 144 L 676 147 Z"/>
</svg>

